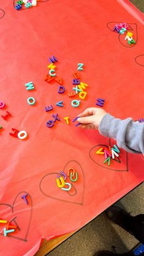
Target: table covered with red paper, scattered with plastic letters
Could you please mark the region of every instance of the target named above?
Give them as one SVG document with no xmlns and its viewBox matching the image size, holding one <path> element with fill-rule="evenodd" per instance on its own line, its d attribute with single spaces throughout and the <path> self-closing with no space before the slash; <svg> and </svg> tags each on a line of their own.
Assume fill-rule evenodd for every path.
<svg viewBox="0 0 144 256">
<path fill-rule="evenodd" d="M 38 1 L 29 9 L 15 9 L 1 0 L 0 65 L 0 219 L 17 229 L 4 236 L 2 255 L 34 255 L 45 238 L 50 240 L 81 228 L 143 181 L 143 156 L 120 150 L 120 161 L 103 163 L 100 147 L 116 144 L 96 130 L 83 130 L 72 120 L 103 98 L 104 109 L 115 117 L 143 117 L 144 31 L 143 14 L 129 1 Z M 135 44 L 113 32 L 126 23 Z M 56 56 L 56 79 L 46 82 L 49 57 Z M 84 70 L 77 71 L 77 64 Z M 73 73 L 87 84 L 79 107 L 73 92 Z M 32 81 L 34 90 L 26 90 Z M 27 104 L 34 97 L 35 104 Z M 56 103 L 63 101 L 63 107 Z M 53 106 L 45 111 L 46 106 Z M 46 126 L 58 114 L 54 126 Z M 69 125 L 64 120 L 69 117 Z M 10 136 L 12 128 L 26 131 L 24 140 Z M 77 170 L 73 193 L 56 185 L 60 171 Z M 24 202 L 27 194 L 27 202 Z"/>
</svg>

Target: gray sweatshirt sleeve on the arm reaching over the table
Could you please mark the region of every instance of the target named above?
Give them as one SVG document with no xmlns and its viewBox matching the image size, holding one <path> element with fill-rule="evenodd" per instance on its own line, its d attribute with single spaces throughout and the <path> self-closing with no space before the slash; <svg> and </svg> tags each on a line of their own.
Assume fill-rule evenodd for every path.
<svg viewBox="0 0 144 256">
<path fill-rule="evenodd" d="M 134 122 L 131 117 L 121 120 L 106 114 L 99 125 L 99 133 L 112 137 L 118 147 L 128 152 L 144 154 L 144 122 Z"/>
</svg>

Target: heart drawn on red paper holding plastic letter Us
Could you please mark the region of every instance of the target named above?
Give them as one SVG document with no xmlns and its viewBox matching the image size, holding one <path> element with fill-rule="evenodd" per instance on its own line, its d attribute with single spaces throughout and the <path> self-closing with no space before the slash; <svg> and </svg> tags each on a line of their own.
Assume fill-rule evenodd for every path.
<svg viewBox="0 0 144 256">
<path fill-rule="evenodd" d="M 72 182 L 70 177 L 67 177 L 66 182 L 71 184 L 70 191 L 63 191 L 57 186 L 56 178 L 57 175 L 60 175 L 60 171 L 62 170 L 59 170 L 59 172 L 49 172 L 49 174 L 46 174 L 40 181 L 40 191 L 45 196 L 52 199 L 83 205 L 85 188 L 84 172 L 81 165 L 74 160 L 65 164 L 63 172 L 67 174 L 70 167 L 73 167 L 78 175 L 76 182 Z"/>
</svg>

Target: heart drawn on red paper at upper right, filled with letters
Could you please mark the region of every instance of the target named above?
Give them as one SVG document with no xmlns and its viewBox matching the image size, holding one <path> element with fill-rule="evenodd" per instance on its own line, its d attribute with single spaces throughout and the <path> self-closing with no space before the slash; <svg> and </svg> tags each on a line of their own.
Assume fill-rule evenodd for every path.
<svg viewBox="0 0 144 256">
<path fill-rule="evenodd" d="M 132 32 L 132 38 L 135 40 L 135 43 L 131 43 L 131 45 L 128 44 L 128 40 L 124 40 L 124 38 L 126 37 L 126 33 L 124 34 L 119 34 L 117 32 L 114 32 L 113 29 L 115 27 L 116 24 L 120 24 L 120 23 L 124 23 L 124 22 L 120 22 L 120 21 L 110 21 L 109 23 L 107 23 L 107 28 L 112 31 L 113 33 L 118 35 L 118 40 L 121 43 L 121 45 L 127 47 L 127 48 L 132 48 L 137 44 L 137 24 L 136 23 L 126 23 L 126 25 L 128 25 L 128 29 L 127 31 Z"/>
</svg>

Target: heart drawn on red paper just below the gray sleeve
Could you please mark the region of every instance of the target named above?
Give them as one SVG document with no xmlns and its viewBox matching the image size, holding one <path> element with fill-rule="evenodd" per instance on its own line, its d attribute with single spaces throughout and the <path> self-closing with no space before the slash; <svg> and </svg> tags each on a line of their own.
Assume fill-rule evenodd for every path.
<svg viewBox="0 0 144 256">
<path fill-rule="evenodd" d="M 113 144 L 111 144 L 111 139 L 109 139 L 109 145 L 110 147 L 112 147 Z M 128 167 L 128 152 L 126 152 L 125 150 L 123 150 L 122 148 L 120 148 L 120 157 L 119 158 L 115 158 L 112 159 L 110 161 L 110 166 L 106 164 L 104 164 L 104 155 L 97 155 L 95 152 L 99 150 L 99 148 L 101 147 L 105 147 L 107 149 L 109 149 L 109 146 L 104 145 L 104 144 L 98 144 L 95 145 L 94 147 L 91 148 L 89 155 L 90 158 L 92 159 L 92 161 L 96 164 L 98 164 L 99 166 L 109 169 L 109 170 L 116 170 L 119 172 L 126 172 L 129 170 Z"/>
</svg>

